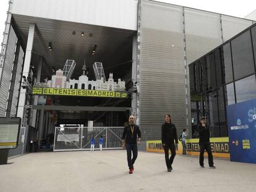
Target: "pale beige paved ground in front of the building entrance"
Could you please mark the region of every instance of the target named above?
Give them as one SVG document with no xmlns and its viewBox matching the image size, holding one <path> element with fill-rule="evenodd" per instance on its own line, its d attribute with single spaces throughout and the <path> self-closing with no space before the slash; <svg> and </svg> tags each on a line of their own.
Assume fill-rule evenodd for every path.
<svg viewBox="0 0 256 192">
<path fill-rule="evenodd" d="M 208 159 L 205 159 L 206 162 Z M 139 152 L 129 174 L 126 151 L 40 152 L 0 165 L 0 191 L 255 191 L 256 165 L 215 159 L 202 169 L 198 157 L 176 156 L 167 172 L 163 154 Z"/>
</svg>

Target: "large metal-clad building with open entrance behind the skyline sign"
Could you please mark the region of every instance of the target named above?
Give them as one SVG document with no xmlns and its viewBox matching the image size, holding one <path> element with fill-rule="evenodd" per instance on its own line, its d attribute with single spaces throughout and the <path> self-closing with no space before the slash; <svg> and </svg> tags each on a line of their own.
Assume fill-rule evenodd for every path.
<svg viewBox="0 0 256 192">
<path fill-rule="evenodd" d="M 0 59 L 0 116 L 22 117 L 25 143 L 32 135 L 41 139 L 53 133 L 54 114 L 58 125 L 93 120 L 103 126 L 122 126 L 133 114 L 143 140 L 160 138 L 166 113 L 178 133 L 190 130 L 187 65 L 254 23 L 150 0 L 9 3 Z M 129 98 L 52 97 L 51 104 L 40 106 L 30 84 L 51 78 L 67 59 L 77 64 L 72 78 L 86 64 L 92 79 L 93 63 L 102 62 L 106 75 L 126 81 Z"/>
</svg>

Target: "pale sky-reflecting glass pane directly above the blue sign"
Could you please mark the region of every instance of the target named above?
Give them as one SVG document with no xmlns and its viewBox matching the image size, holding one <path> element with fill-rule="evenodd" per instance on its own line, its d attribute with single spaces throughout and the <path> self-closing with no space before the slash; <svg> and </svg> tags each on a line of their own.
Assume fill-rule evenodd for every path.
<svg viewBox="0 0 256 192">
<path fill-rule="evenodd" d="M 248 101 L 256 98 L 255 75 L 235 82 L 236 102 Z"/>
</svg>

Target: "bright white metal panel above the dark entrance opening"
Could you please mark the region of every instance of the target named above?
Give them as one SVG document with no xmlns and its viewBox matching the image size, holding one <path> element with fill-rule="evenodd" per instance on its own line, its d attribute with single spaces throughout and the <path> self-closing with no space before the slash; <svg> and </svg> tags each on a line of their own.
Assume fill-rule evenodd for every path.
<svg viewBox="0 0 256 192">
<path fill-rule="evenodd" d="M 13 0 L 12 14 L 137 30 L 134 0 Z"/>
</svg>

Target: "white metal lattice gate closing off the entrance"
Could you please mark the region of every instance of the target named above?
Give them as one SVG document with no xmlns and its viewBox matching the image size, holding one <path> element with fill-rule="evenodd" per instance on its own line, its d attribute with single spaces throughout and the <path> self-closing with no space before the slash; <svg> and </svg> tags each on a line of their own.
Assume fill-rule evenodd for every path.
<svg viewBox="0 0 256 192">
<path fill-rule="evenodd" d="M 99 140 L 103 137 L 103 149 L 121 149 L 124 127 L 56 127 L 53 151 L 90 150 L 90 140 L 94 137 L 95 149 L 100 149 Z"/>
</svg>

